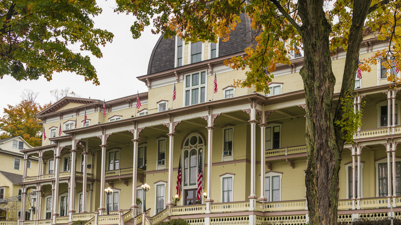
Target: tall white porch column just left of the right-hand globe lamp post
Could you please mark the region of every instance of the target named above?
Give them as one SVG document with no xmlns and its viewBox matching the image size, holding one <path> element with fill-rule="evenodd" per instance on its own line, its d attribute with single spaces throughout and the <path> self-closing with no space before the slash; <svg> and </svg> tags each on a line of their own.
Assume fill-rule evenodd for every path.
<svg viewBox="0 0 401 225">
<path fill-rule="evenodd" d="M 134 138 L 132 139 L 132 142 L 134 144 L 134 153 L 133 153 L 133 159 L 132 159 L 132 204 L 131 204 L 131 209 L 133 213 L 133 217 L 137 216 L 137 209 L 139 208 L 139 205 L 136 204 L 136 186 L 137 186 L 137 180 L 138 180 L 138 144 L 139 144 L 139 134 L 141 131 L 144 129 L 138 128 L 138 123 L 135 122 L 134 124 L 134 129 L 129 130 L 134 135 Z"/>
</svg>

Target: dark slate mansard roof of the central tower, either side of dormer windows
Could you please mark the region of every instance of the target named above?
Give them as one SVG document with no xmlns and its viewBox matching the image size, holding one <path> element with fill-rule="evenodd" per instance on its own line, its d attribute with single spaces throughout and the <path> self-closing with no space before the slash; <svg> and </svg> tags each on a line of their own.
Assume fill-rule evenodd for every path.
<svg viewBox="0 0 401 225">
<path fill-rule="evenodd" d="M 250 19 L 241 14 L 241 23 L 231 32 L 227 42 L 220 42 L 218 47 L 218 58 L 227 57 L 235 53 L 243 52 L 249 46 L 251 36 Z M 174 68 L 175 59 L 175 37 L 164 39 L 163 35 L 159 37 L 153 48 L 149 64 L 148 74 L 154 74 L 167 71 Z"/>
</svg>

